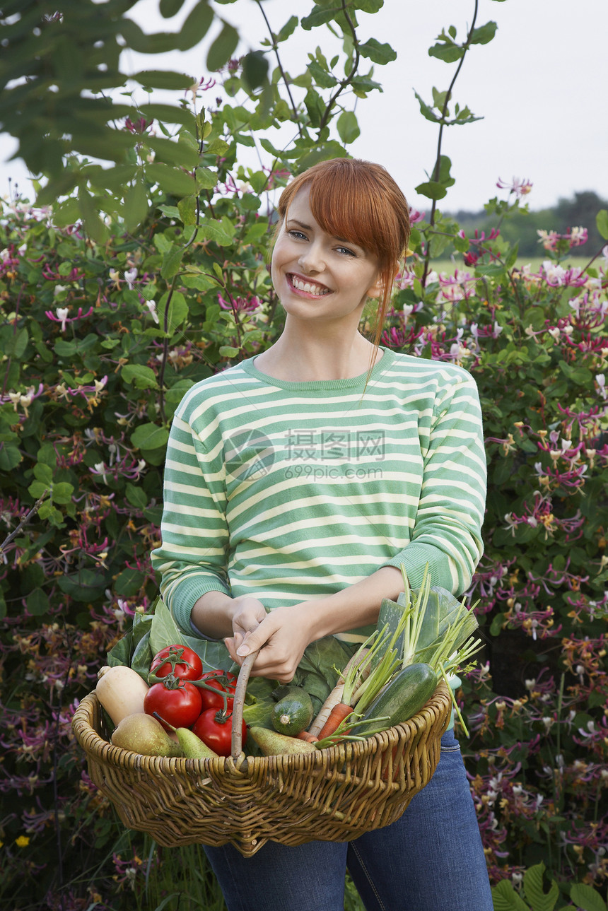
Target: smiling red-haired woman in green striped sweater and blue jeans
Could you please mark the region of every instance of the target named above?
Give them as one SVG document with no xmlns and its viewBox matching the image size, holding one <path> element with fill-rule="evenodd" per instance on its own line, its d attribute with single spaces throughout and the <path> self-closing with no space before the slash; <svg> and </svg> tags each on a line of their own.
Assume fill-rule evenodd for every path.
<svg viewBox="0 0 608 911">
<path fill-rule="evenodd" d="M 186 632 L 291 681 L 325 636 L 365 639 L 384 598 L 428 564 L 460 595 L 481 555 L 485 458 L 464 370 L 378 346 L 408 206 L 366 161 L 315 165 L 283 191 L 272 279 L 283 333 L 195 385 L 176 412 L 153 562 Z M 359 332 L 378 299 L 376 340 Z M 348 867 L 367 911 L 491 911 L 453 732 L 397 823 L 350 843 L 205 848 L 229 911 L 341 911 Z"/>
</svg>

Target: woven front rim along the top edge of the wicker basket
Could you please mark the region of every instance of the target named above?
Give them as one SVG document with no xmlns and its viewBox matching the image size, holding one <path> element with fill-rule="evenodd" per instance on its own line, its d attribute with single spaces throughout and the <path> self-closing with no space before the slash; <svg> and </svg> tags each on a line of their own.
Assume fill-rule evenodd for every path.
<svg viewBox="0 0 608 911">
<path fill-rule="evenodd" d="M 439 681 L 437 689 L 427 704 L 416 715 L 412 716 L 407 722 L 387 728 L 386 731 L 372 734 L 365 741 L 346 741 L 315 752 L 282 753 L 276 756 L 251 756 L 242 752 L 236 761 L 232 759 L 232 756 L 226 758 L 219 756 L 211 759 L 188 759 L 183 756 L 148 756 L 115 746 L 104 740 L 89 721 L 93 711 L 99 708 L 98 696 L 95 691 L 88 693 L 80 701 L 74 713 L 72 726 L 77 742 L 88 756 L 99 762 L 120 766 L 124 769 L 141 770 L 142 766 L 148 765 L 158 769 L 159 773 L 164 774 L 179 774 L 180 772 L 206 773 L 212 770 L 217 775 L 229 771 L 238 773 L 242 761 L 246 759 L 245 768 L 251 769 L 253 767 L 259 769 L 261 763 L 262 767 L 264 765 L 267 767 L 272 766 L 274 770 L 281 769 L 284 772 L 297 766 L 298 771 L 303 772 L 305 769 L 314 768 L 319 764 L 334 765 L 335 763 L 344 763 L 351 756 L 361 755 L 364 752 L 384 750 L 388 746 L 394 746 L 400 739 L 409 740 L 417 732 L 424 731 L 433 722 L 437 721 L 438 715 L 441 715 L 446 710 L 446 701 L 451 702 L 448 687 L 444 681 Z"/>
</svg>

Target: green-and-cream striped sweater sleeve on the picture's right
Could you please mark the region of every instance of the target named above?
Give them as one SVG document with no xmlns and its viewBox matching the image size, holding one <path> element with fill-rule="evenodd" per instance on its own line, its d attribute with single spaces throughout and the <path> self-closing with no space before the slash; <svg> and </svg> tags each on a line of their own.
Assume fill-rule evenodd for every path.
<svg viewBox="0 0 608 911">
<path fill-rule="evenodd" d="M 431 585 L 460 596 L 483 553 L 486 457 L 479 394 L 472 377 L 438 395 L 423 448 L 416 522 L 406 548 L 386 566 L 403 565 L 413 588 L 428 564 Z"/>
</svg>

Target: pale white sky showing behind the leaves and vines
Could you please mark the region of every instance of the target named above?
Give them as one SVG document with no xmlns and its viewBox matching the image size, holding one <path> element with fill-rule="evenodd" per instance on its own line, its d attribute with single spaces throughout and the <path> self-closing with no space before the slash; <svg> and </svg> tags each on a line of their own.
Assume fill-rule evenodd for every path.
<svg viewBox="0 0 608 911">
<path fill-rule="evenodd" d="M 186 0 L 180 16 L 168 21 L 157 12 L 158 0 L 139 0 L 130 15 L 146 31 L 172 30 L 192 4 L 193 0 Z M 264 0 L 263 6 L 278 31 L 290 15 L 306 15 L 312 0 Z M 238 54 L 259 46 L 265 26 L 253 0 L 216 5 L 216 9 L 246 36 Z M 474 0 L 385 0 L 378 13 L 359 14 L 360 36 L 388 42 L 397 51 L 397 61 L 376 67 L 375 77 L 384 92 L 358 100 L 362 132 L 349 150 L 385 165 L 410 203 L 423 210 L 429 203 L 417 197 L 413 188 L 432 168 L 438 128 L 419 113 L 414 89 L 430 102 L 431 87 L 448 87 L 457 64 L 429 57 L 428 47 L 450 25 L 457 27 L 457 40 L 462 40 L 473 9 Z M 479 0 L 477 25 L 489 19 L 498 23 L 497 35 L 489 45 L 471 48 L 454 94 L 461 107 L 468 105 L 484 119 L 444 130 L 442 150 L 452 160 L 456 183 L 440 207 L 479 210 L 497 193 L 506 195 L 496 188 L 499 178 L 510 181 L 514 176 L 531 180 L 531 209 L 551 206 L 577 190 L 593 189 L 607 199 L 608 3 Z M 172 68 L 201 77 L 206 75 L 206 46 L 213 34 L 203 47 L 177 56 L 130 55 L 123 69 Z M 312 32 L 298 29 L 282 46 L 283 66 L 297 75 L 304 69 L 308 49 L 320 45 L 330 56 L 332 41 L 325 26 Z M 11 138 L 0 137 L 2 195 L 8 190 L 8 177 L 18 182 L 22 192 L 28 188 L 23 162 L 5 162 L 14 148 Z"/>
</svg>

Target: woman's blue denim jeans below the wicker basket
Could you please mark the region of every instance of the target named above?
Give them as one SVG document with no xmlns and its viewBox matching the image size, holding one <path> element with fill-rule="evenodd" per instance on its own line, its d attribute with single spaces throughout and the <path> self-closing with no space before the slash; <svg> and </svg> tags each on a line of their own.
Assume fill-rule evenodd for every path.
<svg viewBox="0 0 608 911">
<path fill-rule="evenodd" d="M 229 911 L 344 911 L 346 867 L 366 911 L 492 911 L 475 807 L 454 732 L 396 823 L 352 842 L 205 847 Z"/>
</svg>

